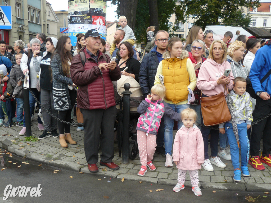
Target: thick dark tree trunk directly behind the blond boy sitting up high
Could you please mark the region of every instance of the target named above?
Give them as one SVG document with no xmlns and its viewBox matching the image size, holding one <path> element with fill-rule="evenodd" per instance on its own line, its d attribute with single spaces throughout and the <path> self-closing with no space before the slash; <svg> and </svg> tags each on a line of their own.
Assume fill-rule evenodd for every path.
<svg viewBox="0 0 271 203">
<path fill-rule="evenodd" d="M 127 18 L 127 24 L 134 31 L 135 14 L 138 0 L 120 0 L 120 15 Z"/>
</svg>

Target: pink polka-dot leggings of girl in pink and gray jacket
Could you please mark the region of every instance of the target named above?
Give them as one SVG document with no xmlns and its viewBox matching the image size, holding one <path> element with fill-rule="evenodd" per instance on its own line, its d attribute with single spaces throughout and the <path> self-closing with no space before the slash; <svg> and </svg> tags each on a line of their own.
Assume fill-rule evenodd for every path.
<svg viewBox="0 0 271 203">
<path fill-rule="evenodd" d="M 145 133 L 141 130 L 137 130 L 137 142 L 140 163 L 143 166 L 147 165 L 147 162 L 153 160 L 153 155 L 156 147 L 156 135 Z"/>
</svg>

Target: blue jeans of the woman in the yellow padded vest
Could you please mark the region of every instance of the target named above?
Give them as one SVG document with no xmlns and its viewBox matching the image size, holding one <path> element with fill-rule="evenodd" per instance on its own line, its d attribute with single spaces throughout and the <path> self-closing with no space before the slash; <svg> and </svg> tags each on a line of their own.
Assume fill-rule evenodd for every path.
<svg viewBox="0 0 271 203">
<path fill-rule="evenodd" d="M 189 104 L 168 104 L 175 112 L 181 113 L 182 110 L 189 108 Z M 182 121 L 178 121 L 178 129 L 180 129 L 183 125 Z M 173 142 L 173 126 L 174 120 L 172 120 L 169 116 L 165 115 L 165 132 L 164 132 L 164 142 L 165 142 L 165 150 L 166 154 L 169 153 L 170 155 L 172 150 L 172 142 Z"/>
</svg>

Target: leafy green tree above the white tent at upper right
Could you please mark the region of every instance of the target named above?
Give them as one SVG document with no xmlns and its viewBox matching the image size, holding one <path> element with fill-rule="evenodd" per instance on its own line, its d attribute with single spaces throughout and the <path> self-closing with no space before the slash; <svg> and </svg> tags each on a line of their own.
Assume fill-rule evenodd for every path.
<svg viewBox="0 0 271 203">
<path fill-rule="evenodd" d="M 204 30 L 206 25 L 248 27 L 251 16 L 244 9 L 259 6 L 259 0 L 183 0 L 182 11 L 184 21 L 192 16 L 194 25 Z"/>
</svg>

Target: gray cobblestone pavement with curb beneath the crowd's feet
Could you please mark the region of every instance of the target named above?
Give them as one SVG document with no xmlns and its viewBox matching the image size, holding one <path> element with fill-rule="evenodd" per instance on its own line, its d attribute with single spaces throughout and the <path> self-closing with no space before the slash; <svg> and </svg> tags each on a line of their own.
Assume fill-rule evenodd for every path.
<svg viewBox="0 0 271 203">
<path fill-rule="evenodd" d="M 26 142 L 25 136 L 18 135 L 20 130 L 21 127 L 17 126 L 13 126 L 11 128 L 0 127 L 0 147 L 6 148 L 9 152 L 21 157 L 26 157 L 26 159 L 32 161 L 73 171 L 90 173 L 84 152 L 84 131 L 76 131 L 76 127 L 71 126 L 72 138 L 77 142 L 77 144 L 68 144 L 68 148 L 62 148 L 59 144 L 59 139 L 53 137 L 38 140 L 37 142 Z M 176 130 L 173 131 L 174 135 L 175 133 Z M 39 131 L 37 127 L 37 116 L 35 114 L 32 126 L 32 135 L 37 137 L 41 134 L 42 132 Z M 114 143 L 114 149 L 115 157 L 113 162 L 118 164 L 120 169 L 111 171 L 107 168 L 107 171 L 103 172 L 102 166 L 98 163 L 97 166 L 99 167 L 99 172 L 96 174 L 111 176 L 113 178 L 124 177 L 128 180 L 166 185 L 175 185 L 177 183 L 178 169 L 174 163 L 172 168 L 165 167 L 164 156 L 154 154 L 153 164 L 156 166 L 156 171 L 148 171 L 145 176 L 138 176 L 137 173 L 141 166 L 139 156 L 137 155 L 134 160 L 129 159 L 129 163 L 124 164 L 122 163 L 122 157 L 119 157 L 117 142 Z M 202 188 L 225 189 L 232 191 L 270 190 L 271 168 L 266 164 L 264 164 L 265 171 L 258 171 L 248 165 L 250 177 L 241 177 L 241 182 L 236 183 L 233 181 L 233 166 L 231 161 L 226 161 L 222 158 L 221 160 L 227 165 L 226 168 L 218 168 L 213 165 L 214 171 L 205 171 L 203 168 L 199 170 L 199 181 Z M 186 174 L 186 179 L 187 181 L 185 182 L 185 186 L 191 187 L 189 173 Z"/>
</svg>

